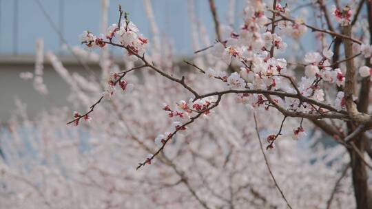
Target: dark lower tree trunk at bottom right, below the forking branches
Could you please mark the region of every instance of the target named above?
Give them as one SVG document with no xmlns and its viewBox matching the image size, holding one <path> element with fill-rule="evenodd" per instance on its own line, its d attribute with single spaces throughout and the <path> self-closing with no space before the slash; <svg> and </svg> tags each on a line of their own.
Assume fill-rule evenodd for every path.
<svg viewBox="0 0 372 209">
<path fill-rule="evenodd" d="M 355 146 L 364 153 L 364 138 L 360 137 L 354 141 Z M 366 165 L 353 149 L 349 149 L 351 168 L 353 173 L 354 195 L 357 209 L 372 209 L 369 205 L 369 190 L 367 185 Z"/>
</svg>

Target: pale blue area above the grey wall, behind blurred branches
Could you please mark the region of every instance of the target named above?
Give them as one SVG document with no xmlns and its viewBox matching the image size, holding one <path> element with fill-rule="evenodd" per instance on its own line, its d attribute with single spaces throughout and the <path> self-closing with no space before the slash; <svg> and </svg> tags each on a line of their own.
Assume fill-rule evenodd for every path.
<svg viewBox="0 0 372 209">
<path fill-rule="evenodd" d="M 14 34 L 14 2 L 17 0 L 0 0 L 0 54 L 34 54 L 36 39 L 43 38 L 45 50 L 60 52 L 59 38 L 45 19 L 39 6 L 34 0 L 18 0 L 18 27 Z M 99 33 L 101 19 L 101 0 L 40 0 L 56 25 L 60 26 L 63 17 L 63 36 L 70 45 L 79 45 L 79 34 L 83 30 Z M 243 0 L 237 0 L 237 19 L 242 11 Z M 63 12 L 60 5 L 63 4 Z M 118 19 L 118 4 L 130 13 L 130 19 L 149 37 L 149 24 L 145 17 L 142 0 L 111 0 L 109 24 Z M 190 54 L 189 17 L 186 0 L 152 0 L 154 15 L 161 34 L 171 37 L 178 54 Z M 216 0 L 221 20 L 227 17 L 227 1 Z M 213 34 L 213 22 L 207 0 L 195 0 L 196 15 Z M 236 25 L 237 26 L 237 25 Z M 151 37 L 149 37 L 151 38 Z M 14 45 L 14 41 L 17 44 Z M 17 46 L 17 47 L 15 47 Z"/>
</svg>

